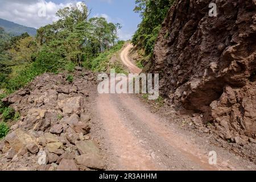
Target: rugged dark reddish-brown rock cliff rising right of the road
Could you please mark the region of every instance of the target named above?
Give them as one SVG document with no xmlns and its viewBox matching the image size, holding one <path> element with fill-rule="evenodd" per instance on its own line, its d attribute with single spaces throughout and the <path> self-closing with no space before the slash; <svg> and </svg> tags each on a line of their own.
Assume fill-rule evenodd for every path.
<svg viewBox="0 0 256 182">
<path fill-rule="evenodd" d="M 255 0 L 177 0 L 148 70 L 160 73 L 164 96 L 204 113 L 226 139 L 256 137 L 255 13 Z"/>
</svg>

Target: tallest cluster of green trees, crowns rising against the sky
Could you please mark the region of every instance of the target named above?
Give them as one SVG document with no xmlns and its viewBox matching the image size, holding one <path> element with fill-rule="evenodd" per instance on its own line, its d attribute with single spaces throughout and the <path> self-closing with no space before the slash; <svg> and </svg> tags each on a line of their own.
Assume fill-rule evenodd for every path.
<svg viewBox="0 0 256 182">
<path fill-rule="evenodd" d="M 36 38 L 48 47 L 47 52 L 57 52 L 58 61 L 89 62 L 116 43 L 120 26 L 105 18 L 88 19 L 88 15 L 85 3 L 65 7 L 57 12 L 60 19 L 56 23 L 39 28 Z"/>
</svg>

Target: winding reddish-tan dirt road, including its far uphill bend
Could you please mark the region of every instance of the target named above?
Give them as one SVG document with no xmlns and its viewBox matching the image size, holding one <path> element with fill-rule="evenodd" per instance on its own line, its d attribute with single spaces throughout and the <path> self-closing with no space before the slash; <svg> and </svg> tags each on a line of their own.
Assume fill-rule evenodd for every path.
<svg viewBox="0 0 256 182">
<path fill-rule="evenodd" d="M 121 53 L 131 73 L 139 73 L 129 60 L 129 44 Z M 255 166 L 214 146 L 207 138 L 185 133 L 168 118 L 152 114 L 133 94 L 100 94 L 95 104 L 103 139 L 102 150 L 110 170 L 243 170 Z M 217 164 L 209 164 L 209 152 Z"/>
</svg>

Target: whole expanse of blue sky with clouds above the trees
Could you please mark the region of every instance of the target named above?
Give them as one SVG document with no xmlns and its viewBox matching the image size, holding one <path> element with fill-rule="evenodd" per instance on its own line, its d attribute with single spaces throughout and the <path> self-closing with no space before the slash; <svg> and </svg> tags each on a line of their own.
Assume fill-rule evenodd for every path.
<svg viewBox="0 0 256 182">
<path fill-rule="evenodd" d="M 46 2 L 44 2 L 46 1 Z M 57 9 L 82 0 L 0 0 L 0 18 L 28 27 L 39 28 L 56 20 Z M 121 23 L 121 39 L 130 39 L 141 22 L 139 14 L 134 13 L 135 0 L 83 0 L 90 16 L 103 16 L 109 22 Z M 39 17 L 40 3 L 47 4 L 47 16 Z"/>
</svg>

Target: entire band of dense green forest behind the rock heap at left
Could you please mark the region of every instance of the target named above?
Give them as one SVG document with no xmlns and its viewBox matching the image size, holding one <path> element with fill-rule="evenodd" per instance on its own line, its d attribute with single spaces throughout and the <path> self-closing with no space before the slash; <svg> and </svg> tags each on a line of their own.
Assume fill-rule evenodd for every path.
<svg viewBox="0 0 256 182">
<path fill-rule="evenodd" d="M 91 60 L 118 43 L 119 24 L 89 18 L 85 3 L 57 11 L 57 22 L 40 27 L 36 36 L 11 37 L 0 29 L 0 88 L 14 92 L 44 72 L 92 68 Z M 95 69 L 95 68 L 94 68 Z"/>
</svg>

